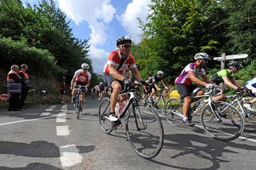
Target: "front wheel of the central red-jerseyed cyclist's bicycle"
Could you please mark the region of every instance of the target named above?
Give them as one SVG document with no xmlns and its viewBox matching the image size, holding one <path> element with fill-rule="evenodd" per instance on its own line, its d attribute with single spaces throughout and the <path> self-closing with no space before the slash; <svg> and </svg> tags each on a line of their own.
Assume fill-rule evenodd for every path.
<svg viewBox="0 0 256 170">
<path fill-rule="evenodd" d="M 162 121 L 149 106 L 136 104 L 130 109 L 126 132 L 131 147 L 139 156 L 151 159 L 161 151 L 164 138 Z"/>
</svg>

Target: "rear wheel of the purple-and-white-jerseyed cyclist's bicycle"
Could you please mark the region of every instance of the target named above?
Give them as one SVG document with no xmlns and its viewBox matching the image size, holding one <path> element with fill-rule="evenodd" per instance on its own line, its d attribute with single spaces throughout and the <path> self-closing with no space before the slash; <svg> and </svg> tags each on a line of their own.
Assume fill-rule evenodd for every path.
<svg viewBox="0 0 256 170">
<path fill-rule="evenodd" d="M 179 99 L 170 99 L 166 102 L 165 106 L 165 117 L 166 120 L 172 124 L 175 125 L 182 121 L 182 105 L 180 105 Z M 180 113 L 180 115 L 177 115 L 177 113 Z"/>
</svg>

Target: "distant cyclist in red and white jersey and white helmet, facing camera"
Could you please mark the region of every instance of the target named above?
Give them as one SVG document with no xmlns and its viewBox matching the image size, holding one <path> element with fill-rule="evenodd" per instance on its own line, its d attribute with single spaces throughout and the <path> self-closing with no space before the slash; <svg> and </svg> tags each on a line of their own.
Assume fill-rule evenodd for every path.
<svg viewBox="0 0 256 170">
<path fill-rule="evenodd" d="M 90 78 L 91 78 L 91 74 L 88 71 L 88 69 L 90 69 L 90 66 L 86 63 L 83 63 L 81 65 L 82 69 L 78 69 L 75 73 L 74 73 L 74 77 L 71 80 L 70 83 L 70 90 L 72 91 L 72 103 L 74 103 L 75 97 L 77 95 L 78 92 L 78 85 L 86 85 L 86 91 L 88 90 L 88 87 L 90 85 Z M 86 97 L 85 93 L 82 93 L 82 101 L 84 101 Z"/>
</svg>

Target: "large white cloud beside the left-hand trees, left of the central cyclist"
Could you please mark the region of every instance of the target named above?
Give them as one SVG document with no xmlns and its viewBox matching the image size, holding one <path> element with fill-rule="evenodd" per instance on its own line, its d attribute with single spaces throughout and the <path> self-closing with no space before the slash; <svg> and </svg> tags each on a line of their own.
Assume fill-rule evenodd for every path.
<svg viewBox="0 0 256 170">
<path fill-rule="evenodd" d="M 90 44 L 106 42 L 107 24 L 114 18 L 116 10 L 110 0 L 58 0 L 59 8 L 77 25 L 87 22 L 91 29 Z"/>
</svg>

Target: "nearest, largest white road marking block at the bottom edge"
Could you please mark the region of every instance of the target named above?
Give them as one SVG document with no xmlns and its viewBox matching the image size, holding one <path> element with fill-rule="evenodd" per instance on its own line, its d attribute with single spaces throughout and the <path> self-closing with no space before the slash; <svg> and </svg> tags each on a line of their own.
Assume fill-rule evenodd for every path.
<svg viewBox="0 0 256 170">
<path fill-rule="evenodd" d="M 78 148 L 75 144 L 65 145 L 59 148 L 61 155 L 60 160 L 63 168 L 82 163 L 82 156 L 78 153 Z"/>
</svg>

